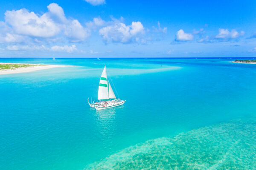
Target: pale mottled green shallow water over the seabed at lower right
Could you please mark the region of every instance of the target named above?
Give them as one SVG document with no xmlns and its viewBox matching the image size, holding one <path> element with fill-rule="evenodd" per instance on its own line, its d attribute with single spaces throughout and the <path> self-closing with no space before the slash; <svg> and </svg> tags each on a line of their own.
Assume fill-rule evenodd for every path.
<svg viewBox="0 0 256 170">
<path fill-rule="evenodd" d="M 255 155 L 256 120 L 247 119 L 148 140 L 86 169 L 252 170 L 256 168 Z"/>
</svg>

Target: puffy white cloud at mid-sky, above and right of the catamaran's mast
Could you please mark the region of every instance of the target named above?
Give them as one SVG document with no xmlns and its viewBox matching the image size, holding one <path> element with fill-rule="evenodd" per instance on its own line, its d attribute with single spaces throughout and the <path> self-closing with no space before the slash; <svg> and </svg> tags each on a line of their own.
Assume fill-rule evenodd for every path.
<svg viewBox="0 0 256 170">
<path fill-rule="evenodd" d="M 143 24 L 139 21 L 132 22 L 129 26 L 121 22 L 114 22 L 110 26 L 101 28 L 99 34 L 104 42 L 143 42 L 141 37 L 145 34 L 145 30 Z"/>
</svg>

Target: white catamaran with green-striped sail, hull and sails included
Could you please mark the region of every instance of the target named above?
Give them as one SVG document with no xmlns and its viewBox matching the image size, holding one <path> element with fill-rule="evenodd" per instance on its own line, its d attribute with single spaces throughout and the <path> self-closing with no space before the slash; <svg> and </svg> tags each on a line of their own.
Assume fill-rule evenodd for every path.
<svg viewBox="0 0 256 170">
<path fill-rule="evenodd" d="M 103 69 L 102 75 L 99 80 L 99 91 L 98 91 L 99 102 L 90 103 L 89 98 L 87 99 L 88 104 L 91 108 L 96 108 L 96 110 L 102 110 L 107 108 L 113 108 L 116 106 L 123 105 L 126 100 L 116 99 L 116 95 L 111 88 L 108 81 L 106 66 Z"/>
</svg>

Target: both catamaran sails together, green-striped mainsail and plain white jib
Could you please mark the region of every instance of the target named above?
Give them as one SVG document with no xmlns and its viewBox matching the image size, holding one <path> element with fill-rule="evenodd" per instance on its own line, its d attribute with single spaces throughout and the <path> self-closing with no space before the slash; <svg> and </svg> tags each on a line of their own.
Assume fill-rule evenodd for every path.
<svg viewBox="0 0 256 170">
<path fill-rule="evenodd" d="M 100 80 L 99 80 L 98 99 L 99 100 L 116 99 L 116 96 L 108 81 L 106 66 L 104 67 L 102 76 L 100 77 Z"/>
</svg>

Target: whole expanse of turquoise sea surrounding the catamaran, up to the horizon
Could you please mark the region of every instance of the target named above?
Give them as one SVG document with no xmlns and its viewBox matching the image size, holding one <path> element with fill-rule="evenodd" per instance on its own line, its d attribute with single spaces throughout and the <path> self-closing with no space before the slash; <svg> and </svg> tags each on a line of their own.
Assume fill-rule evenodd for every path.
<svg viewBox="0 0 256 170">
<path fill-rule="evenodd" d="M 256 169 L 256 65 L 234 59 L 0 59 L 1 170 Z M 124 105 L 90 109 L 106 65 Z"/>
</svg>

